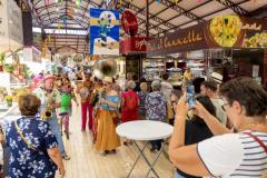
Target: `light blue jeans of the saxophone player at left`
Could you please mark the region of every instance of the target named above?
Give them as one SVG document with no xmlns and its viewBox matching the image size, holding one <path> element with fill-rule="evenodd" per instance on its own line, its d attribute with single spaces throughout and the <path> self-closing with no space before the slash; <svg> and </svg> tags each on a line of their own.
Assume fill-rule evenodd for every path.
<svg viewBox="0 0 267 178">
<path fill-rule="evenodd" d="M 51 130 L 52 130 L 52 132 L 53 132 L 53 135 L 57 139 L 58 145 L 59 145 L 60 154 L 63 157 L 66 155 L 66 151 L 65 151 L 62 136 L 61 136 L 61 132 L 60 132 L 60 129 L 59 129 L 58 119 L 57 119 L 56 113 L 52 115 L 51 119 L 48 119 L 48 123 L 51 127 Z"/>
</svg>

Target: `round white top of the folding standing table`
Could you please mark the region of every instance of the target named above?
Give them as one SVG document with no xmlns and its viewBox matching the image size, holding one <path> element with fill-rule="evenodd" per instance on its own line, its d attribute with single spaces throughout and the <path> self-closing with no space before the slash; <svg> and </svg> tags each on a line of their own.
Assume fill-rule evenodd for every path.
<svg viewBox="0 0 267 178">
<path fill-rule="evenodd" d="M 165 139 L 170 137 L 172 131 L 172 126 L 152 120 L 128 121 L 116 128 L 120 137 L 138 141 Z"/>
</svg>

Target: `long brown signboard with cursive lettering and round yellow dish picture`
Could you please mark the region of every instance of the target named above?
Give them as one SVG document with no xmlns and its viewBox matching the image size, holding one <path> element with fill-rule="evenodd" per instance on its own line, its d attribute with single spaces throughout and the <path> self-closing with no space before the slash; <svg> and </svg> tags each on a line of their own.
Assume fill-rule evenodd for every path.
<svg viewBox="0 0 267 178">
<path fill-rule="evenodd" d="M 267 20 L 219 16 L 149 41 L 148 57 L 208 48 L 267 48 Z"/>
</svg>

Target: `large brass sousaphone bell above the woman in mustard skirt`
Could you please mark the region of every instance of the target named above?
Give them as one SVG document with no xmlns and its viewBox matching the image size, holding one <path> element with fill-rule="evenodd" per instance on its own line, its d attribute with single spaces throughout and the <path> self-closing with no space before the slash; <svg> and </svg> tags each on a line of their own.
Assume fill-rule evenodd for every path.
<svg viewBox="0 0 267 178">
<path fill-rule="evenodd" d="M 98 79 L 113 77 L 117 73 L 117 62 L 113 59 L 101 59 L 95 63 L 93 75 Z"/>
</svg>

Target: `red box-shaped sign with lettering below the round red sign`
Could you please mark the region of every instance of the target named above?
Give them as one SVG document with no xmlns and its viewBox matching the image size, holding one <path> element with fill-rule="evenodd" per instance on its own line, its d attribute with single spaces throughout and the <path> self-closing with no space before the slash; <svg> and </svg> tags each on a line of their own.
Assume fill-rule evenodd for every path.
<svg viewBox="0 0 267 178">
<path fill-rule="evenodd" d="M 147 51 L 147 43 L 151 38 L 131 37 L 120 41 L 120 53 L 138 53 Z"/>
</svg>

